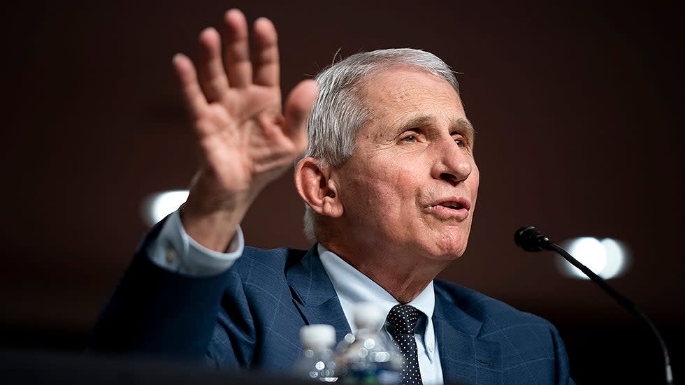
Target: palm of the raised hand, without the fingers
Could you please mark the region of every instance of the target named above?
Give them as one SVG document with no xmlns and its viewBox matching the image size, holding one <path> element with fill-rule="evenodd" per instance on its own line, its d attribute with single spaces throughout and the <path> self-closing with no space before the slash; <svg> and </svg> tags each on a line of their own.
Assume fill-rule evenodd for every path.
<svg viewBox="0 0 685 385">
<path fill-rule="evenodd" d="M 305 150 L 303 131 L 289 135 L 280 89 L 250 85 L 209 103 L 196 120 L 201 173 L 215 180 L 215 194 L 264 187 Z"/>
</svg>

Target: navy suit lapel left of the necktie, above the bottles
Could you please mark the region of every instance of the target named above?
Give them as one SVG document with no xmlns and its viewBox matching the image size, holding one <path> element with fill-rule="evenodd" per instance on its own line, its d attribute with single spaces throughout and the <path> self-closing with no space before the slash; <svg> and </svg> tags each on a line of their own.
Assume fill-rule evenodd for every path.
<svg viewBox="0 0 685 385">
<path fill-rule="evenodd" d="M 319 259 L 314 245 L 299 263 L 286 273 L 293 301 L 305 319 L 305 324 L 329 324 L 336 328 L 336 338 L 342 340 L 352 330 L 347 324 L 336 289 Z"/>
</svg>

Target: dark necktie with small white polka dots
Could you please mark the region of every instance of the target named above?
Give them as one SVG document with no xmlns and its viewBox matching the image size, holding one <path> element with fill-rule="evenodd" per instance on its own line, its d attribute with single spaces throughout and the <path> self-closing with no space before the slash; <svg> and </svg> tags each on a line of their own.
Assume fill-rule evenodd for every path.
<svg viewBox="0 0 685 385">
<path fill-rule="evenodd" d="M 419 371 L 419 357 L 417 355 L 414 329 L 421 312 L 412 305 L 395 305 L 388 313 L 388 332 L 394 338 L 395 343 L 404 356 L 404 368 L 402 370 L 401 384 L 419 384 L 421 372 Z"/>
</svg>

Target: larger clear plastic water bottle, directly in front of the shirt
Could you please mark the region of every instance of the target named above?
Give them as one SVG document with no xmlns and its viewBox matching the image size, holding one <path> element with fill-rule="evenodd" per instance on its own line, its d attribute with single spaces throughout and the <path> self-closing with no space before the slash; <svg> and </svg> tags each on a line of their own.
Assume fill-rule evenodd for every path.
<svg viewBox="0 0 685 385">
<path fill-rule="evenodd" d="M 338 375 L 343 384 L 399 384 L 402 354 L 381 330 L 386 315 L 379 307 L 363 303 L 354 309 L 356 333 L 338 344 Z"/>
</svg>

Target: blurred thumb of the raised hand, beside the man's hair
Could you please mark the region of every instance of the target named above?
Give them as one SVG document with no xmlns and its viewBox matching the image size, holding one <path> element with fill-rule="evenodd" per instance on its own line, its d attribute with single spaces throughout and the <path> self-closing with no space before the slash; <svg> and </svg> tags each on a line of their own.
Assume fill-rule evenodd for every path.
<svg viewBox="0 0 685 385">
<path fill-rule="evenodd" d="M 314 80 L 303 80 L 290 92 L 285 102 L 285 127 L 287 135 L 304 151 L 307 147 L 307 122 L 319 87 Z"/>
</svg>

